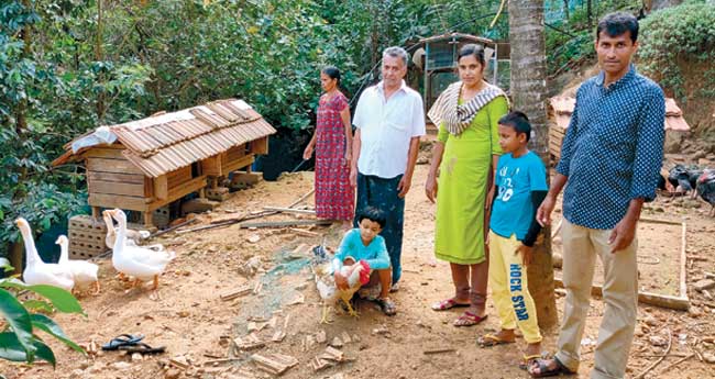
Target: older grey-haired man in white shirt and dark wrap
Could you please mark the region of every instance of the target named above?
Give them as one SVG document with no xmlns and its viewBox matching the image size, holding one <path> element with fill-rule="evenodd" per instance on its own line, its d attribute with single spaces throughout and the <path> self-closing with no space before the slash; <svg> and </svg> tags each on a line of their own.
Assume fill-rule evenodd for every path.
<svg viewBox="0 0 715 379">
<path fill-rule="evenodd" d="M 419 137 L 425 135 L 425 109 L 419 93 L 405 85 L 407 52 L 388 47 L 383 52 L 383 80 L 363 91 L 353 124 L 353 158 L 350 182 L 358 187 L 355 214 L 365 207 L 387 213 L 385 238 L 392 266 L 393 291 L 402 275 L 403 219 Z"/>
</svg>

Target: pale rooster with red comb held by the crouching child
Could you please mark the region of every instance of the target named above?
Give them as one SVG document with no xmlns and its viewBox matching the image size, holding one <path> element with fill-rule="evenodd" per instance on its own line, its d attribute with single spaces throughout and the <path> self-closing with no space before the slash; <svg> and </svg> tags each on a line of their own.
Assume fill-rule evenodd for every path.
<svg viewBox="0 0 715 379">
<path fill-rule="evenodd" d="M 346 263 L 340 269 L 340 274 L 348 278 L 346 290 L 340 290 L 336 286 L 334 271 L 330 261 L 323 261 L 314 266 L 316 287 L 323 303 L 322 317 L 320 319 L 321 324 L 328 323 L 328 308 L 330 305 L 334 306 L 338 300 L 342 300 L 348 306 L 348 313 L 350 315 L 358 316 L 358 312 L 350 304 L 350 300 L 363 285 L 370 281 L 370 265 L 364 260 L 354 263 L 354 259 L 351 259 L 353 264 Z"/>
</svg>

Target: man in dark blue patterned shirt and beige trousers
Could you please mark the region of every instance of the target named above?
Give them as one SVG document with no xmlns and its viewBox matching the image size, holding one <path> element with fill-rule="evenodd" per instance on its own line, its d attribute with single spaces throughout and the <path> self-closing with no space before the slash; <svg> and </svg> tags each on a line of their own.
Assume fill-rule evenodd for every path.
<svg viewBox="0 0 715 379">
<path fill-rule="evenodd" d="M 549 223 L 565 186 L 563 322 L 556 357 L 532 361 L 532 377 L 578 372 L 596 257 L 604 267 L 606 310 L 591 378 L 626 372 L 638 301 L 636 227 L 642 203 L 656 197 L 666 137 L 663 92 L 630 63 L 637 38 L 631 14 L 612 13 L 598 22 L 602 70 L 579 88 L 557 175 L 537 211 L 537 220 Z"/>
</svg>

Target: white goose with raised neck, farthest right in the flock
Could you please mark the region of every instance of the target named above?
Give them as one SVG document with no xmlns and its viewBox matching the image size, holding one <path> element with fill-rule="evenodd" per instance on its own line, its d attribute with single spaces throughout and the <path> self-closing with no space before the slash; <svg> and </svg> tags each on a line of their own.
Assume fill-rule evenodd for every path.
<svg viewBox="0 0 715 379">
<path fill-rule="evenodd" d="M 127 214 L 120 209 L 105 211 L 117 220 L 119 230 L 113 246 L 112 265 L 127 276 L 134 277 L 134 287 L 140 281 L 154 279 L 154 287 L 158 287 L 158 276 L 164 272 L 166 265 L 176 257 L 174 252 L 155 252 L 142 246 L 127 244 Z"/>
</svg>

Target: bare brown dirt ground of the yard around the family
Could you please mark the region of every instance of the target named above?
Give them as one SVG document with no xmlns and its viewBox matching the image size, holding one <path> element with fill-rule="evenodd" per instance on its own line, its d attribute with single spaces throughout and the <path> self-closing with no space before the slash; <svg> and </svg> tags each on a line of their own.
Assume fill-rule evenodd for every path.
<svg viewBox="0 0 715 379">
<path fill-rule="evenodd" d="M 81 298 L 87 316 L 55 316 L 74 341 L 85 345 L 91 342 L 101 345 L 121 333 L 143 334 L 146 343 L 166 346 L 165 354 L 147 355 L 141 360 L 138 359 L 141 357 L 132 358 L 118 352 L 99 352 L 97 356 L 84 357 L 47 337 L 45 341 L 57 355 L 56 369 L 48 365 L 30 367 L 2 361 L 0 374 L 8 379 L 268 378 L 271 376 L 258 370 L 249 357 L 255 353 L 280 353 L 298 360 L 297 366 L 283 375 L 285 378 L 527 378 L 518 368 L 522 339 L 516 345 L 490 349 L 475 346 L 476 336 L 498 327 L 491 302 L 488 319 L 468 328 L 452 326 L 451 322 L 459 315 L 457 311 L 429 309 L 432 302 L 452 294 L 453 289 L 448 265 L 436 261 L 432 255 L 435 205 L 424 194 L 427 168 L 426 165 L 417 167 L 407 198 L 404 277 L 399 292 L 393 294 L 398 305 L 396 316 L 387 317 L 373 304 L 361 302 L 359 319 L 332 313 L 331 324 L 318 323 L 321 305 L 307 265 L 308 253 L 293 250 L 300 244 L 319 244 L 322 237 L 268 228 L 241 230 L 237 225 L 169 233 L 152 242 L 163 243 L 177 253 L 177 259 L 162 276 L 157 291 L 147 288 L 125 291 L 114 277 L 111 260 L 103 258 L 99 260 L 101 293 Z M 237 192 L 217 211 L 199 218 L 201 223 L 208 223 L 210 219 L 257 211 L 264 205 L 286 207 L 311 187 L 312 172 L 284 175 L 276 182 L 260 182 L 252 189 Z M 708 210 L 710 205 L 704 202 L 693 203 L 688 199 L 659 199 L 647 205 L 645 216 L 684 219 L 689 223 L 688 282 L 692 306 L 689 312 L 639 306 L 637 337 L 628 367 L 631 378 L 666 352 L 668 355 L 646 378 L 714 376 L 715 365 L 704 360 L 715 354 L 715 301 L 690 286 L 705 278 L 706 271 L 715 271 L 712 256 L 715 219 L 707 218 Z M 288 219 L 292 216 L 262 220 Z M 337 225 L 312 231 L 324 235 L 326 244 L 332 247 L 341 236 Z M 679 254 L 679 241 L 663 234 L 661 228 L 641 226 L 639 238 L 656 249 L 662 245 L 668 247 L 669 254 Z M 245 264 L 251 258 L 263 272 L 249 275 Z M 230 301 L 220 299 L 221 294 L 246 282 L 251 288 L 261 282 L 257 294 L 249 293 Z M 557 306 L 561 313 L 561 297 Z M 580 377 L 586 377 L 593 365 L 594 342 L 603 311 L 603 302 L 594 298 L 583 335 L 584 361 Z M 258 336 L 267 341 L 266 345 L 235 352 L 231 341 L 246 336 L 249 327 L 264 327 Z M 276 331 L 285 332 L 282 342 L 271 341 Z M 321 331 L 327 342 L 316 341 Z M 557 334 L 557 331 L 544 332 L 547 350 L 553 350 Z M 351 339 L 340 348 L 349 360 L 314 371 L 310 360 L 326 350 L 327 343 L 343 335 Z M 448 350 L 425 354 L 431 349 Z M 172 366 L 168 369 L 165 366 L 172 358 L 186 363 L 188 368 Z M 218 360 L 222 358 L 235 359 Z"/>
</svg>

